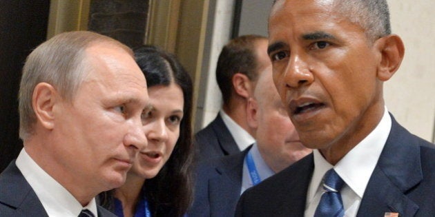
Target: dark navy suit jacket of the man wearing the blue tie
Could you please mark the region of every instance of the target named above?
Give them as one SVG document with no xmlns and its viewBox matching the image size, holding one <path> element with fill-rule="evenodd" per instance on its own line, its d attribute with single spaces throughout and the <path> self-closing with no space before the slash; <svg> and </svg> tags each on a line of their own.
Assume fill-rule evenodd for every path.
<svg viewBox="0 0 435 217">
<path fill-rule="evenodd" d="M 392 130 L 357 216 L 435 216 L 435 149 L 392 117 Z M 313 154 L 244 192 L 236 216 L 303 216 Z"/>
</svg>

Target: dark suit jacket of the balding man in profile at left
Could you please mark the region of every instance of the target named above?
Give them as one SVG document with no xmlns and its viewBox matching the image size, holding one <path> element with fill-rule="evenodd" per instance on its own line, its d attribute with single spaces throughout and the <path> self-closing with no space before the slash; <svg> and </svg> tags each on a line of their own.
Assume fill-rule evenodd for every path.
<svg viewBox="0 0 435 217">
<path fill-rule="evenodd" d="M 115 217 L 103 207 L 97 206 L 97 210 L 99 217 Z M 48 217 L 35 191 L 15 165 L 15 161 L 0 174 L 0 216 Z"/>
</svg>

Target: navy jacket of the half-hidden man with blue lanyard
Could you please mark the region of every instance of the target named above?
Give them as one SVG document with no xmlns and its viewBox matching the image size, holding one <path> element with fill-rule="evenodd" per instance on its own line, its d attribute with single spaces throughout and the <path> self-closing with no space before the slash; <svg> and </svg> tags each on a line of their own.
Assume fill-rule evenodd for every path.
<svg viewBox="0 0 435 217">
<path fill-rule="evenodd" d="M 243 152 L 214 158 L 197 168 L 195 198 L 188 212 L 189 217 L 234 216 L 235 205 L 242 189 Z"/>
</svg>

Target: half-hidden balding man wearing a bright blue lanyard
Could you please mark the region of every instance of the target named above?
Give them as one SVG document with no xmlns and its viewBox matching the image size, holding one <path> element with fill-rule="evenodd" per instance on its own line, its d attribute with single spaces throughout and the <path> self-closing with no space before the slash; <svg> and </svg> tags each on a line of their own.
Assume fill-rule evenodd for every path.
<svg viewBox="0 0 435 217">
<path fill-rule="evenodd" d="M 247 108 L 249 127 L 257 138 L 244 152 L 201 165 L 189 216 L 234 216 L 245 189 L 300 160 L 311 149 L 303 146 L 280 96 L 273 87 L 272 67 L 261 72 Z"/>
</svg>

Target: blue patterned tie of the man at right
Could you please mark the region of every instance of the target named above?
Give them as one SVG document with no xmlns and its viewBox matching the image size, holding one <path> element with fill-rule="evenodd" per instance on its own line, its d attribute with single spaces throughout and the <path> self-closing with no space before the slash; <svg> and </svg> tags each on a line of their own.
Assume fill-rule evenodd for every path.
<svg viewBox="0 0 435 217">
<path fill-rule="evenodd" d="M 325 192 L 320 198 L 314 217 L 342 217 L 345 215 L 340 189 L 345 182 L 338 176 L 334 169 L 329 169 L 323 177 Z"/>
</svg>

